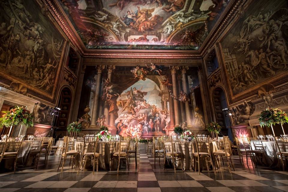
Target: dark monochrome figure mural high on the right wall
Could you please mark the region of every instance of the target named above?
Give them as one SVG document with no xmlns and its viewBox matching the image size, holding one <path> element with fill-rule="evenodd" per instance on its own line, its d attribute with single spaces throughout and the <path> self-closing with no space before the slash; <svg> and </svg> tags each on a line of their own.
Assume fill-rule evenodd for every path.
<svg viewBox="0 0 288 192">
<path fill-rule="evenodd" d="M 238 13 L 221 42 L 234 95 L 287 71 L 287 8 L 285 0 L 254 1 Z"/>
</svg>

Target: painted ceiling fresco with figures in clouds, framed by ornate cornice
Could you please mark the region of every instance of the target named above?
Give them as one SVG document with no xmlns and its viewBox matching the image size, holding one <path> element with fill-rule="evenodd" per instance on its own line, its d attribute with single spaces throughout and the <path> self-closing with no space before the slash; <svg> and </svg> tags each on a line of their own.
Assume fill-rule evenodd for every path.
<svg viewBox="0 0 288 192">
<path fill-rule="evenodd" d="M 87 49 L 198 50 L 229 0 L 58 0 Z"/>
</svg>

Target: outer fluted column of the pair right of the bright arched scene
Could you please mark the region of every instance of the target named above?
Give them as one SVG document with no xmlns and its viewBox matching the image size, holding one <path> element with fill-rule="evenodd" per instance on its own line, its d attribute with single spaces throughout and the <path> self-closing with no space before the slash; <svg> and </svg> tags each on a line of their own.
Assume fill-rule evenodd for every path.
<svg viewBox="0 0 288 192">
<path fill-rule="evenodd" d="M 190 95 L 190 89 L 189 89 L 189 83 L 188 83 L 188 77 L 186 70 L 188 70 L 188 67 L 182 67 L 181 73 L 182 73 L 182 84 L 183 84 L 183 92 L 187 94 L 187 97 Z M 193 125 L 193 116 L 192 116 L 192 109 L 189 106 L 189 101 L 185 101 L 185 111 L 186 111 L 186 120 L 187 120 L 187 127 L 191 127 Z"/>
</svg>

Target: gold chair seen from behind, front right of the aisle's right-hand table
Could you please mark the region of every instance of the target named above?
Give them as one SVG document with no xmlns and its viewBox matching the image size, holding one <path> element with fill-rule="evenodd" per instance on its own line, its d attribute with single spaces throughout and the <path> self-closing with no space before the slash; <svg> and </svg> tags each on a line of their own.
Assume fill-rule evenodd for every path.
<svg viewBox="0 0 288 192">
<path fill-rule="evenodd" d="M 200 160 L 205 160 L 208 172 L 210 172 L 208 163 L 211 163 L 213 172 L 216 175 L 215 167 L 213 165 L 212 158 L 211 158 L 212 156 L 210 152 L 210 137 L 208 136 L 206 140 L 203 140 L 202 138 L 199 138 L 199 137 L 195 137 L 195 142 L 196 142 L 197 152 L 193 153 L 194 171 L 196 171 L 196 162 L 197 162 L 198 172 L 200 175 Z"/>
</svg>

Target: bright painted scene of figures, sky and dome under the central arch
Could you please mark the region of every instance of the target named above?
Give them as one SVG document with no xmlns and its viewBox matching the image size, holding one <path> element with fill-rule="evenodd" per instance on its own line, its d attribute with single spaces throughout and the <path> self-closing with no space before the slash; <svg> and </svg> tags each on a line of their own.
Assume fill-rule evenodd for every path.
<svg viewBox="0 0 288 192">
<path fill-rule="evenodd" d="M 161 107 L 159 87 L 150 79 L 140 80 L 122 92 L 115 127 L 118 134 L 132 137 L 163 135 L 169 127 L 170 115 Z"/>
</svg>

